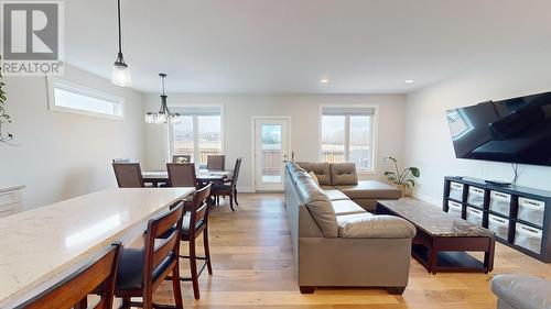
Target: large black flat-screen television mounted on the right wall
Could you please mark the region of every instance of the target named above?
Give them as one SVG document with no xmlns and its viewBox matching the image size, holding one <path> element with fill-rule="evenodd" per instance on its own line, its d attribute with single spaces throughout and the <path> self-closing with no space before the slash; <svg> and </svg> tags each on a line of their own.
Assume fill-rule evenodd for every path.
<svg viewBox="0 0 551 309">
<path fill-rule="evenodd" d="M 551 92 L 447 110 L 455 156 L 551 166 Z"/>
</svg>

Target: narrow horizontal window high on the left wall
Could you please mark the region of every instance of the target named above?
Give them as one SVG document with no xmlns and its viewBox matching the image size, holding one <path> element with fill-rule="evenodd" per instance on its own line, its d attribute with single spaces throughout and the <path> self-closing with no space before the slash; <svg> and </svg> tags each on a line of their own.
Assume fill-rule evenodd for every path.
<svg viewBox="0 0 551 309">
<path fill-rule="evenodd" d="M 62 79 L 48 79 L 50 109 L 121 119 L 125 100 Z"/>
</svg>

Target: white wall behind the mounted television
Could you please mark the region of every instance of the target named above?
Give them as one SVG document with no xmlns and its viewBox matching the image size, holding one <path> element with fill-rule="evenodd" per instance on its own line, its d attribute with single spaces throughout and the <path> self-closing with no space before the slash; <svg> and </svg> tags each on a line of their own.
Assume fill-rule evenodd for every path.
<svg viewBox="0 0 551 309">
<path fill-rule="evenodd" d="M 550 51 L 501 59 L 476 73 L 440 82 L 407 97 L 404 156 L 421 168 L 415 195 L 442 203 L 444 176 L 512 180 L 510 164 L 457 159 L 445 111 L 450 108 L 551 90 Z M 550 167 L 519 166 L 518 185 L 551 190 Z"/>
</svg>

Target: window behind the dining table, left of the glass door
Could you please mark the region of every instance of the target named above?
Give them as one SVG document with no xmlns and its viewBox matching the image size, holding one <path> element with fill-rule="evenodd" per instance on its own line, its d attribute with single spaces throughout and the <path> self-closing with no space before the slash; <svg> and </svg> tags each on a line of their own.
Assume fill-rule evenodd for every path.
<svg viewBox="0 0 551 309">
<path fill-rule="evenodd" d="M 183 115 L 181 123 L 170 126 L 171 157 L 191 155 L 194 163 L 206 164 L 207 156 L 224 152 L 222 107 L 172 107 L 171 111 Z"/>
</svg>

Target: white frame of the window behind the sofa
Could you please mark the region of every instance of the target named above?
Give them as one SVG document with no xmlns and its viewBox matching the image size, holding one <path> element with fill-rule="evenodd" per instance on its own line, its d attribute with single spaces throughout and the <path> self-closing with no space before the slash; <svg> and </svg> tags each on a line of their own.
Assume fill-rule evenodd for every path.
<svg viewBox="0 0 551 309">
<path fill-rule="evenodd" d="M 321 162 L 323 157 L 323 150 L 322 150 L 322 130 L 323 130 L 323 109 L 326 108 L 339 108 L 339 109 L 358 109 L 358 108 L 365 108 L 365 109 L 372 109 L 374 110 L 374 115 L 371 117 L 371 132 L 372 132 L 372 139 L 371 139 L 371 169 L 358 169 L 357 173 L 360 175 L 377 175 L 378 174 L 378 164 L 377 164 L 377 150 L 378 150 L 378 143 L 379 143 L 379 135 L 378 135 L 378 128 L 379 128 L 379 106 L 377 104 L 321 104 L 320 106 L 320 111 L 318 111 L 318 130 L 317 130 L 317 139 L 318 139 L 318 150 L 317 150 L 317 161 Z M 349 118 L 346 118 L 346 123 L 345 126 L 347 128 L 345 130 L 345 156 L 346 153 L 349 152 L 349 139 L 350 139 L 350 132 L 349 132 Z"/>
</svg>

